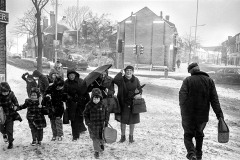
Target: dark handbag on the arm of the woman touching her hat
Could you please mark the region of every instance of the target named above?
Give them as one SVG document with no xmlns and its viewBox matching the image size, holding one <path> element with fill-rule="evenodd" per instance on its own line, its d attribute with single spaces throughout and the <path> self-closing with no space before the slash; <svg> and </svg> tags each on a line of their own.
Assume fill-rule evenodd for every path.
<svg viewBox="0 0 240 160">
<path fill-rule="evenodd" d="M 147 112 L 147 107 L 144 98 L 133 99 L 132 113 Z"/>
</svg>

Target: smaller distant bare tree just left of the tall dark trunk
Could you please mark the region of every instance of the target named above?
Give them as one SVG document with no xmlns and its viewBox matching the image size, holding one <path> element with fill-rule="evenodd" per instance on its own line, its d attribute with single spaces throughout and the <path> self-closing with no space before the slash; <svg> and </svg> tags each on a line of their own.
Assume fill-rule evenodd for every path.
<svg viewBox="0 0 240 160">
<path fill-rule="evenodd" d="M 35 36 L 37 35 L 37 21 L 36 21 L 36 10 L 34 8 L 27 10 L 24 13 L 24 16 L 18 19 L 17 23 L 15 24 L 15 30 L 13 31 L 14 34 L 17 35 L 30 35 L 32 36 L 34 42 L 34 49 L 37 55 L 37 42 Z"/>
</svg>

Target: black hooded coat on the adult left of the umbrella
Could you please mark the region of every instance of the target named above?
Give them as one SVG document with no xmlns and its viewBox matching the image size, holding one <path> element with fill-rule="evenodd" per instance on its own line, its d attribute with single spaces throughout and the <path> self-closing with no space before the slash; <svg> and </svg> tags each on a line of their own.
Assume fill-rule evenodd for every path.
<svg viewBox="0 0 240 160">
<path fill-rule="evenodd" d="M 69 79 L 69 74 L 75 73 L 74 80 Z M 90 97 L 87 92 L 83 92 L 81 87 L 83 79 L 74 69 L 67 70 L 68 79 L 64 82 L 64 93 L 67 95 L 66 105 L 68 110 L 69 119 L 74 121 L 75 116 L 83 116 L 85 105 L 89 102 Z"/>
</svg>

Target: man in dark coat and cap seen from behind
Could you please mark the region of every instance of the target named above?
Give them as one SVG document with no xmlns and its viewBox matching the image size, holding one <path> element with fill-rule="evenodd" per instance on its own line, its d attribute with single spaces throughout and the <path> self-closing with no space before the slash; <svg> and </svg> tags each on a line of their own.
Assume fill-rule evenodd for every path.
<svg viewBox="0 0 240 160">
<path fill-rule="evenodd" d="M 217 118 L 223 118 L 215 84 L 209 75 L 200 71 L 197 63 L 188 66 L 191 76 L 184 79 L 179 91 L 184 144 L 187 158 L 202 159 L 203 130 L 209 120 L 210 104 Z M 195 137 L 194 147 L 192 138 Z"/>
</svg>

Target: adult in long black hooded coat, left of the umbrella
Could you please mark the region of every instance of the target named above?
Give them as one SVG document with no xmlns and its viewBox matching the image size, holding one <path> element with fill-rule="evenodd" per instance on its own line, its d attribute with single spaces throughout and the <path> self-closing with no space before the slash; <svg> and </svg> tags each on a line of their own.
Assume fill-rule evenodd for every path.
<svg viewBox="0 0 240 160">
<path fill-rule="evenodd" d="M 76 141 L 81 132 L 86 131 L 83 123 L 83 111 L 90 100 L 89 94 L 81 90 L 83 79 L 74 69 L 67 70 L 67 80 L 64 82 L 64 93 L 67 95 L 67 110 L 71 121 L 73 141 Z"/>
</svg>

